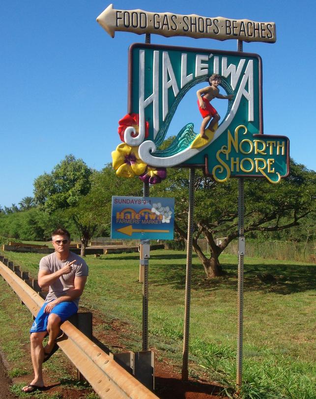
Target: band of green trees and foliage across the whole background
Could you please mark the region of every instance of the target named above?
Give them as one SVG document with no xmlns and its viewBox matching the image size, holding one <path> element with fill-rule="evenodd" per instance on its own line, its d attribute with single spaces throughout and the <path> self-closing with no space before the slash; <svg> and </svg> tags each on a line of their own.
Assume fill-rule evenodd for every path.
<svg viewBox="0 0 316 399">
<path fill-rule="evenodd" d="M 150 188 L 151 196 L 175 198 L 175 220 L 182 229 L 182 239 L 187 229 L 188 185 L 188 170 L 171 168 L 166 180 Z M 81 238 L 85 229 L 90 237 L 91 234 L 110 236 L 114 195 L 142 196 L 143 183 L 138 178 L 116 176 L 111 164 L 100 171 L 92 170 L 83 160 L 67 155 L 51 173 L 35 179 L 35 201 L 25 197 L 19 203 L 20 208 L 12 204 L 3 211 L 0 207 L 0 235 L 16 240 L 43 241 L 49 240 L 57 227 L 65 227 L 73 237 Z M 196 170 L 195 237 L 205 237 L 208 232 L 212 238 L 234 239 L 237 197 L 236 179 L 219 184 Z M 245 179 L 248 237 L 261 242 L 315 240 L 315 199 L 316 173 L 293 160 L 289 177 L 280 184 L 273 185 L 259 178 Z M 175 238 L 180 236 L 176 232 Z"/>
</svg>

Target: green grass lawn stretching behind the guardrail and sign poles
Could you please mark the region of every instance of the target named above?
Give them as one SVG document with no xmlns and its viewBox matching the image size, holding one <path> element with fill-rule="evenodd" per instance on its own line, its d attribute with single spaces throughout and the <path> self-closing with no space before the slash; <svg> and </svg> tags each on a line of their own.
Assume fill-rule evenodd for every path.
<svg viewBox="0 0 316 399">
<path fill-rule="evenodd" d="M 41 254 L 7 253 L 36 277 Z M 236 378 L 237 259 L 221 256 L 225 277 L 206 280 L 193 256 L 190 375 L 206 372 L 232 395 Z M 81 305 L 103 322 L 127 323 L 128 350 L 142 348 L 142 284 L 138 254 L 87 256 L 89 278 Z M 186 254 L 152 251 L 149 260 L 149 348 L 181 369 Z M 315 397 L 315 271 L 308 263 L 245 258 L 243 386 L 240 398 Z M 273 283 L 258 274 L 270 273 Z M 0 323 L 2 325 L 2 323 Z M 0 331 L 1 333 L 1 331 Z M 2 333 L 1 333 L 2 335 Z M 1 342 L 1 341 L 0 341 Z M 18 350 L 19 348 L 17 348 Z M 115 349 L 114 349 L 115 351 Z M 16 354 L 15 356 L 18 356 Z"/>
</svg>

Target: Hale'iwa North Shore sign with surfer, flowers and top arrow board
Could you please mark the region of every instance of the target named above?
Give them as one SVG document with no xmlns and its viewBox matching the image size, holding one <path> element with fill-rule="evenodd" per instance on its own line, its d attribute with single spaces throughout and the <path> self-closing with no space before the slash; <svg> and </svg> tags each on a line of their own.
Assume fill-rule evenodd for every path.
<svg viewBox="0 0 316 399">
<path fill-rule="evenodd" d="M 97 21 L 112 37 L 115 31 L 126 31 L 219 40 L 276 40 L 272 22 L 115 10 L 112 4 Z M 197 93 L 203 117 L 200 134 L 190 120 L 184 120 L 179 131 L 170 132 L 180 101 L 202 82 L 208 82 L 211 88 Z M 227 95 L 219 93 L 218 85 Z M 229 100 L 221 123 L 217 123 L 220 115 L 210 105 L 216 97 Z M 192 111 L 197 112 L 196 98 L 192 100 Z M 208 104 L 207 112 L 211 110 L 206 116 L 203 101 Z M 166 178 L 167 167 L 181 166 L 202 167 L 218 182 L 230 177 L 265 177 L 279 183 L 289 173 L 288 138 L 273 132 L 263 134 L 262 62 L 257 54 L 133 44 L 129 49 L 127 112 L 118 122 L 123 143 L 112 152 L 119 176 L 139 176 L 156 184 Z M 211 117 L 216 124 L 209 123 Z M 184 118 L 190 118 L 190 114 Z M 206 122 L 207 128 L 203 125 Z M 167 132 L 175 138 L 162 148 Z"/>
</svg>

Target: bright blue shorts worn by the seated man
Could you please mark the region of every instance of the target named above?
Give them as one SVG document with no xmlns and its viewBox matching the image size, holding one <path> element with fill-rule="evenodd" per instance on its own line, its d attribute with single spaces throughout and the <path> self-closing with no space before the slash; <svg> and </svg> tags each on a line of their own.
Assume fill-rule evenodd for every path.
<svg viewBox="0 0 316 399">
<path fill-rule="evenodd" d="M 32 324 L 29 332 L 44 332 L 47 331 L 48 316 L 52 313 L 57 314 L 60 317 L 61 322 L 69 319 L 70 316 L 78 312 L 78 307 L 74 302 L 60 302 L 53 307 L 50 313 L 44 313 L 44 308 L 49 302 L 45 302 L 39 309 L 37 316 Z"/>
</svg>

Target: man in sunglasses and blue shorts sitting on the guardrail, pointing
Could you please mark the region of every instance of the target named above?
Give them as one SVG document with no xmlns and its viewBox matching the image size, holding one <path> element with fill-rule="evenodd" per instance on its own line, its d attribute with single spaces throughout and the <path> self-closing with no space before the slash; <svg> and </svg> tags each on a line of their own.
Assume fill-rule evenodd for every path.
<svg viewBox="0 0 316 399">
<path fill-rule="evenodd" d="M 77 313 L 88 275 L 86 262 L 69 251 L 67 230 L 56 230 L 52 241 L 55 252 L 44 256 L 39 263 L 38 284 L 41 288 L 49 287 L 49 292 L 30 329 L 34 379 L 22 388 L 25 393 L 45 389 L 42 364 L 58 349 L 56 339 L 60 335 L 60 324 Z M 47 334 L 48 342 L 44 347 L 43 339 Z"/>
</svg>

